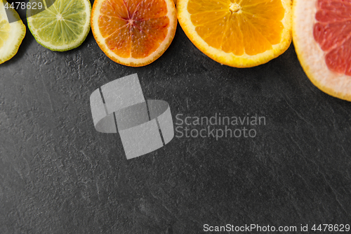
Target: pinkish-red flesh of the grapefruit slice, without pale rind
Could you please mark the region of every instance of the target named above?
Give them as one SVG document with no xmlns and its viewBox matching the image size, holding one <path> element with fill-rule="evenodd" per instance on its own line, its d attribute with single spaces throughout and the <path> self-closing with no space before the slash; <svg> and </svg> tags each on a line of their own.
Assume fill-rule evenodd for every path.
<svg viewBox="0 0 351 234">
<path fill-rule="evenodd" d="M 351 76 L 351 1 L 318 0 L 315 41 L 329 70 Z"/>
</svg>

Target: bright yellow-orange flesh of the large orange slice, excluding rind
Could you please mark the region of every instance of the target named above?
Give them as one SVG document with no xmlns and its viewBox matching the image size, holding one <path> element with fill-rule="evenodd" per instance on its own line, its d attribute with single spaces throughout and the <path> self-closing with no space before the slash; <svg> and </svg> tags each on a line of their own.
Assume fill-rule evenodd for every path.
<svg viewBox="0 0 351 234">
<path fill-rule="evenodd" d="M 281 0 L 190 0 L 187 11 L 209 46 L 235 56 L 272 49 L 284 30 Z"/>
</svg>

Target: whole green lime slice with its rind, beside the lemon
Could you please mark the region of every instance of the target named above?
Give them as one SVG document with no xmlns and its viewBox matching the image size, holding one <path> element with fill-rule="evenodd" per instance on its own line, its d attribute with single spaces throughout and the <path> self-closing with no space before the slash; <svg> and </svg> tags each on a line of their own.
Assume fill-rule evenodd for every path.
<svg viewBox="0 0 351 234">
<path fill-rule="evenodd" d="M 34 6 L 37 1 L 29 2 Z M 45 7 L 49 5 L 47 2 L 44 0 Z M 90 16 L 88 0 L 56 0 L 44 11 L 27 8 L 30 32 L 39 44 L 52 51 L 68 51 L 80 46 L 90 30 Z"/>
</svg>

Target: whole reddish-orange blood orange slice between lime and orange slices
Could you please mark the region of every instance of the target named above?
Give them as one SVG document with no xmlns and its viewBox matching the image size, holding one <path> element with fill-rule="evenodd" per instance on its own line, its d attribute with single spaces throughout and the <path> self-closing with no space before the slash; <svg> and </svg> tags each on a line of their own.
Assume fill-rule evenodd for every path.
<svg viewBox="0 0 351 234">
<path fill-rule="evenodd" d="M 176 27 L 173 0 L 96 0 L 91 13 L 91 29 L 102 51 L 131 67 L 159 58 Z"/>
</svg>

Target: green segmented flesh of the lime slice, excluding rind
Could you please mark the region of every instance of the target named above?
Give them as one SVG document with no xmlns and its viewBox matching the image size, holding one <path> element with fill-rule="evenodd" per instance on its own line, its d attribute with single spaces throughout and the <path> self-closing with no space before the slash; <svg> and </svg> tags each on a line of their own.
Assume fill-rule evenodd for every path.
<svg viewBox="0 0 351 234">
<path fill-rule="evenodd" d="M 32 25 L 41 40 L 53 46 L 69 45 L 84 32 L 85 8 L 83 1 L 56 0 L 41 13 L 32 12 Z"/>
</svg>

